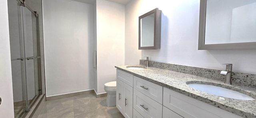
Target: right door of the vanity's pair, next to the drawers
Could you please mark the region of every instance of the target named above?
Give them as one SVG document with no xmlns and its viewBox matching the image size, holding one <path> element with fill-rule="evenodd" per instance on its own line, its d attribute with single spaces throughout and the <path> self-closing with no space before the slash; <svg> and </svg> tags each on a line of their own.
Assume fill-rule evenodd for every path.
<svg viewBox="0 0 256 118">
<path fill-rule="evenodd" d="M 132 118 L 132 105 L 133 105 L 133 88 L 129 85 L 123 83 L 123 100 L 124 100 L 124 117 L 125 118 Z"/>
</svg>

